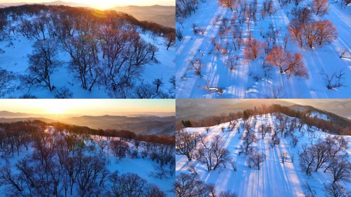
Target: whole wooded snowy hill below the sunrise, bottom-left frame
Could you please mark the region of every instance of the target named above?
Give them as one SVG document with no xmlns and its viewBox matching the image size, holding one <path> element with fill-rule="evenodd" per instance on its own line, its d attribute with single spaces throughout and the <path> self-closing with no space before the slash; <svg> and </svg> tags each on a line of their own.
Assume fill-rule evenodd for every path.
<svg viewBox="0 0 351 197">
<path fill-rule="evenodd" d="M 174 136 L 42 121 L 1 123 L 0 129 L 0 188 L 6 188 L 6 196 L 162 197 L 170 192 L 149 181 L 172 179 Z M 141 177 L 141 169 L 121 172 L 128 158 L 151 162 L 147 177 Z M 118 170 L 110 171 L 113 166 Z"/>
</svg>

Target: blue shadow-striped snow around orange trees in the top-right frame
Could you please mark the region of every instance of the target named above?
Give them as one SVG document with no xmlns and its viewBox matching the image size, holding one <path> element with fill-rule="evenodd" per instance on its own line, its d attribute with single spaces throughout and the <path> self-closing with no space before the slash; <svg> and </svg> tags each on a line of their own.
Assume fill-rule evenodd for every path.
<svg viewBox="0 0 351 197">
<path fill-rule="evenodd" d="M 273 24 L 279 30 L 277 44 L 283 45 L 285 34 L 288 35 L 287 50 L 291 53 L 303 54 L 303 63 L 308 73 L 308 79 L 298 76 L 287 76 L 281 74 L 277 67 L 262 68 L 264 56 L 255 61 L 245 61 L 243 48 L 235 51 L 230 49 L 229 53 L 222 55 L 213 50 L 210 41 L 212 37 L 219 40 L 219 25 L 216 17 L 231 19 L 233 12 L 228 8 L 218 5 L 217 0 L 199 1 L 199 9 L 196 13 L 183 20 L 182 25 L 177 23 L 177 29 L 182 31 L 183 40 L 177 40 L 176 51 L 176 80 L 177 98 L 347 98 L 351 94 L 351 59 L 340 58 L 339 50 L 351 49 L 351 7 L 341 9 L 340 4 L 329 1 L 329 13 L 324 16 L 315 16 L 313 19 L 328 19 L 337 28 L 338 37 L 331 44 L 316 49 L 300 48 L 287 31 L 287 25 L 291 19 L 290 10 L 295 7 L 293 1 L 287 7 L 280 8 L 279 0 L 273 0 L 276 12 L 265 19 L 261 19 L 260 9 L 263 0 L 258 0 L 258 11 L 256 13 L 257 24 L 251 24 L 252 37 L 258 41 L 265 41 L 260 35 L 268 31 L 269 24 Z M 302 1 L 300 7 L 310 5 L 311 0 Z M 310 6 L 308 6 L 310 8 Z M 204 35 L 194 34 L 192 24 L 199 28 L 204 27 Z M 243 38 L 247 38 L 246 24 L 242 25 Z M 222 45 L 229 41 L 231 45 L 232 35 L 224 36 Z M 230 70 L 227 66 L 228 58 L 237 55 L 238 66 Z M 200 58 L 203 63 L 202 77 L 197 76 L 189 65 L 189 61 Z M 328 90 L 320 73 L 332 75 L 334 72 L 343 70 L 345 72 L 345 87 Z M 221 88 L 223 93 L 218 93 Z"/>
</svg>

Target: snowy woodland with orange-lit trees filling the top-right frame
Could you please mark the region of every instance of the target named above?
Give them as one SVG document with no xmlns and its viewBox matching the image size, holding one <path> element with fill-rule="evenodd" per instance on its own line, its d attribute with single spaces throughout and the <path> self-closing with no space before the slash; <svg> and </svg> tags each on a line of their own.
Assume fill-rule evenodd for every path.
<svg viewBox="0 0 351 197">
<path fill-rule="evenodd" d="M 177 1 L 177 98 L 347 98 L 348 5 Z"/>
</svg>

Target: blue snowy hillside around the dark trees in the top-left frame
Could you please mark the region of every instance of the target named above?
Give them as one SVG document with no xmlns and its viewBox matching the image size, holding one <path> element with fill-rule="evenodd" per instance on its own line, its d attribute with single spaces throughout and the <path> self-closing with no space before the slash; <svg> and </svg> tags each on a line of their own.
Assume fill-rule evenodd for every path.
<svg viewBox="0 0 351 197">
<path fill-rule="evenodd" d="M 74 8 L 73 8 L 74 9 Z M 77 9 L 79 10 L 79 9 Z M 60 95 L 64 95 L 65 97 L 72 97 L 72 98 L 109 98 L 109 97 L 164 97 L 164 96 L 170 96 L 174 97 L 174 93 L 169 93 L 169 92 L 174 92 L 174 87 L 173 84 L 170 83 L 171 78 L 174 76 L 174 69 L 175 69 L 175 47 L 169 47 L 167 49 L 166 43 L 167 43 L 167 38 L 164 36 L 162 33 L 155 34 L 152 31 L 143 29 L 142 27 L 138 26 L 133 26 L 132 29 L 135 29 L 135 32 L 137 32 L 141 36 L 141 43 L 142 45 L 146 44 L 145 46 L 148 46 L 148 44 L 152 44 L 155 46 L 156 51 L 154 55 L 152 55 L 152 60 L 147 60 L 151 57 L 151 53 L 149 49 L 145 48 L 146 50 L 143 51 L 144 49 L 139 51 L 139 57 L 140 60 L 137 60 L 136 62 L 139 61 L 139 63 L 135 62 L 136 64 L 140 64 L 136 67 L 138 69 L 131 70 L 127 75 L 130 77 L 130 82 L 126 82 L 125 84 L 128 84 L 127 87 L 124 87 L 125 90 L 124 93 L 121 94 L 119 91 L 111 91 L 111 87 L 109 87 L 110 83 L 105 83 L 104 81 L 104 68 L 108 67 L 110 68 L 111 66 L 108 64 L 119 64 L 123 61 L 126 61 L 122 57 L 121 49 L 118 47 L 121 46 L 114 46 L 113 48 L 111 46 L 112 53 L 116 55 L 115 60 L 108 60 L 108 55 L 103 52 L 104 46 L 107 48 L 106 43 L 101 42 L 100 38 L 97 38 L 97 35 L 99 32 L 91 33 L 89 30 L 89 27 L 83 27 L 88 29 L 87 32 L 83 33 L 84 36 L 93 36 L 95 44 L 95 50 L 97 51 L 96 54 L 96 60 L 94 60 L 94 65 L 87 63 L 87 65 L 90 65 L 89 67 L 94 67 L 94 69 L 97 69 L 99 71 L 94 71 L 94 69 L 91 69 L 90 74 L 92 77 L 89 79 L 88 75 L 86 77 L 86 81 L 88 84 L 87 88 L 82 87 L 82 83 L 80 82 L 80 77 L 77 77 L 77 73 L 75 73 L 74 70 L 69 69 L 69 65 L 72 62 L 72 57 L 71 55 L 67 52 L 67 50 L 64 50 L 62 42 L 60 42 L 60 38 L 57 38 L 56 36 L 50 35 L 52 32 L 49 32 L 49 28 L 52 28 L 52 26 L 60 26 L 55 24 L 55 22 L 51 21 L 51 16 L 53 14 L 60 14 L 60 13 L 54 13 L 55 11 L 47 12 L 41 11 L 37 13 L 37 15 L 21 15 L 21 16 L 10 16 L 7 15 L 6 21 L 7 24 L 4 26 L 3 29 L 0 28 L 0 33 L 2 38 L 0 39 L 0 68 L 5 69 L 8 72 L 13 72 L 11 74 L 11 80 L 9 81 L 8 84 L 2 85 L 4 88 L 1 89 L 2 97 L 5 98 L 16 98 L 19 96 L 26 95 L 26 97 L 29 97 L 29 95 L 38 97 L 38 98 L 54 98 L 54 97 L 60 97 Z M 52 15 L 50 15 L 50 14 Z M 102 14 L 99 12 L 99 14 Z M 15 14 L 14 14 L 15 15 Z M 94 15 L 94 13 L 92 13 Z M 19 32 L 18 28 L 21 27 L 21 24 L 23 21 L 28 20 L 30 23 L 31 27 L 34 27 L 34 21 L 37 20 L 37 18 L 42 18 L 42 17 L 47 17 L 45 20 L 48 20 L 45 22 L 46 25 L 44 25 L 44 32 L 45 32 L 45 37 L 46 40 L 54 40 L 56 43 L 54 44 L 58 49 L 57 49 L 57 55 L 53 58 L 55 58 L 55 61 L 59 62 L 59 66 L 56 66 L 56 68 L 50 69 L 49 70 L 49 77 L 50 77 L 50 84 L 53 86 L 53 90 L 49 90 L 49 88 L 45 87 L 44 80 L 42 80 L 40 77 L 37 77 L 38 80 L 32 81 L 35 82 L 34 85 L 31 84 L 26 84 L 24 80 L 21 80 L 21 76 L 28 74 L 28 67 L 30 65 L 29 62 L 29 55 L 33 54 L 33 45 L 37 42 L 37 40 L 44 40 L 44 37 L 42 34 L 36 35 L 38 39 L 34 38 L 33 36 L 29 35 L 29 37 L 24 36 L 22 33 Z M 54 17 L 54 16 L 52 16 Z M 60 16 L 62 17 L 62 16 Z M 105 17 L 105 16 L 104 16 Z M 19 19 L 21 18 L 21 19 Z M 74 17 L 73 17 L 74 18 Z M 84 18 L 84 17 L 83 17 Z M 119 21 L 119 19 L 115 19 L 116 21 Z M 70 22 L 72 23 L 72 22 Z M 83 19 L 80 23 L 84 23 Z M 50 25 L 49 25 L 50 24 Z M 76 24 L 71 24 L 72 25 L 72 32 L 73 36 L 79 36 L 77 29 L 79 25 Z M 85 24 L 87 25 L 87 24 Z M 122 31 L 125 28 L 125 26 L 128 26 L 127 24 L 122 24 L 118 28 Z M 80 27 L 82 28 L 82 27 Z M 96 27 L 95 27 L 96 28 Z M 97 27 L 99 31 L 104 31 L 104 28 L 109 29 L 110 27 L 106 26 L 101 26 Z M 1 32 L 3 31 L 3 32 Z M 32 30 L 30 30 L 32 31 Z M 57 34 L 59 34 L 60 30 L 53 29 L 53 31 Z M 91 30 L 95 31 L 95 30 Z M 121 32 L 122 32 L 121 31 Z M 27 32 L 28 33 L 28 32 Z M 128 32 L 127 32 L 128 33 Z M 129 35 L 132 33 L 129 32 Z M 4 35 L 4 36 L 3 36 Z M 116 36 L 116 35 L 115 35 Z M 67 38 L 66 38 L 67 39 Z M 69 38 L 68 38 L 69 39 Z M 112 39 L 113 38 L 108 38 Z M 127 39 L 127 38 L 125 38 Z M 115 40 L 113 42 L 116 42 Z M 96 45 L 97 44 L 97 45 Z M 116 44 L 117 43 L 112 43 Z M 121 44 L 122 47 L 124 44 Z M 84 47 L 84 46 L 83 46 Z M 131 46 L 130 46 L 131 47 Z M 137 47 L 138 48 L 138 47 Z M 120 50 L 120 51 L 118 51 Z M 124 49 L 123 49 L 124 50 Z M 90 50 L 91 52 L 91 50 Z M 94 52 L 93 52 L 94 53 Z M 91 61 L 88 60 L 89 54 L 86 54 L 86 57 L 81 56 L 80 58 L 85 58 L 85 61 Z M 93 55 L 94 56 L 94 55 Z M 122 60 L 123 59 L 123 60 Z M 83 59 L 82 59 L 83 61 Z M 108 63 L 110 61 L 110 63 Z M 112 63 L 111 63 L 112 61 Z M 113 63 L 114 62 L 114 63 Z M 127 64 L 127 62 L 125 62 Z M 128 63 L 129 64 L 129 63 Z M 134 63 L 131 63 L 134 64 Z M 53 70 L 53 71 L 52 71 Z M 121 71 L 123 70 L 123 66 L 121 68 Z M 50 73 L 52 71 L 52 73 Z M 121 73 L 119 70 L 118 73 Z M 96 72 L 96 73 L 94 73 Z M 30 73 L 33 77 L 36 76 L 33 73 Z M 78 74 L 79 75 L 79 74 Z M 95 75 L 95 76 L 94 76 Z M 2 76 L 3 79 L 2 81 L 6 81 L 5 76 Z M 121 86 L 124 82 L 123 77 L 125 76 L 119 76 L 119 79 L 115 78 L 115 85 L 119 84 L 118 86 Z M 159 96 L 159 95 L 154 95 L 154 92 L 151 90 L 153 89 L 154 86 L 153 82 L 157 79 L 162 80 L 161 81 L 161 86 L 160 86 L 160 92 L 164 92 L 164 95 Z M 124 79 L 125 80 L 125 79 Z M 41 81 L 39 83 L 36 83 L 37 81 Z M 84 80 L 83 80 L 84 81 Z M 2 82 L 3 83 L 3 82 Z M 93 85 L 93 88 L 91 91 L 89 91 L 89 86 Z M 144 85 L 144 86 L 140 86 Z M 145 85 L 147 85 L 145 88 Z M 123 86 L 123 85 L 122 85 Z M 146 92 L 150 92 L 149 94 L 152 95 L 141 95 L 138 93 L 134 92 L 134 88 L 139 87 L 140 91 L 144 91 L 143 93 L 146 94 Z M 143 89 L 144 88 L 144 89 Z M 115 88 L 112 88 L 115 89 Z M 146 89 L 146 90 L 145 90 Z M 8 91 L 10 90 L 10 91 Z M 116 93 L 118 92 L 118 93 Z M 124 95 L 123 95 L 124 94 Z"/>
</svg>

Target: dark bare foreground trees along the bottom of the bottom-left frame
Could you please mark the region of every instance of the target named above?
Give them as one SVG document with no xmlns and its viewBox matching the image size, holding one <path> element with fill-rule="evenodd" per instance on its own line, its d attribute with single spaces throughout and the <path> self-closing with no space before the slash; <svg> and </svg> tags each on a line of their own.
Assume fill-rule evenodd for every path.
<svg viewBox="0 0 351 197">
<path fill-rule="evenodd" d="M 106 161 L 97 155 L 69 156 L 62 166 L 49 164 L 22 159 L 15 165 L 15 170 L 9 165 L 3 167 L 0 181 L 8 186 L 6 195 L 165 196 L 158 186 L 147 183 L 138 174 L 109 173 Z"/>
</svg>

